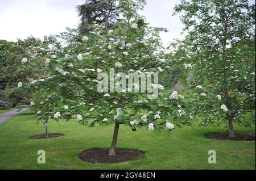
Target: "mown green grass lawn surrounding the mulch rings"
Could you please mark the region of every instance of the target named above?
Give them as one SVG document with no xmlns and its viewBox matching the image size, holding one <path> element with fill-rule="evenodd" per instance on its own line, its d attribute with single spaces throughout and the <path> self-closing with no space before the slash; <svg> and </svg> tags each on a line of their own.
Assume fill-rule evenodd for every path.
<svg viewBox="0 0 256 181">
<path fill-rule="evenodd" d="M 121 125 L 118 148 L 144 151 L 142 158 L 114 164 L 82 162 L 77 155 L 90 148 L 109 148 L 114 125 L 82 127 L 75 120 L 49 122 L 49 133 L 65 136 L 30 140 L 44 133 L 42 124 L 29 110 L 0 125 L 0 169 L 255 169 L 255 141 L 210 140 L 204 134 L 224 132 L 224 128 L 184 127 L 132 132 Z M 255 135 L 255 128 L 235 126 L 236 133 Z M 46 151 L 46 164 L 37 163 L 38 150 Z M 216 150 L 217 163 L 208 163 L 208 151 Z"/>
</svg>

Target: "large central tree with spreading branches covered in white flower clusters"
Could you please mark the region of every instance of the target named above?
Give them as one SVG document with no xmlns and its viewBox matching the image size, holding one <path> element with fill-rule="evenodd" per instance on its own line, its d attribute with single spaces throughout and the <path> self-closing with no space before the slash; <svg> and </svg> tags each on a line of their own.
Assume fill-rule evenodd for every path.
<svg viewBox="0 0 256 181">
<path fill-rule="evenodd" d="M 109 155 L 115 155 L 119 124 L 149 130 L 192 124 L 184 95 L 177 91 L 158 95 L 164 87 L 153 73 L 170 69 L 159 38 L 159 32 L 166 30 L 148 27 L 136 12 L 143 4 L 119 1 L 123 19 L 114 30 L 94 24 L 87 36 L 76 30 L 62 33 L 58 36 L 62 47 L 38 56 L 46 60 L 44 81 L 30 82 L 61 97 L 50 112 L 47 104 L 42 104 L 43 110 L 39 107 L 44 119 L 50 113 L 53 119 L 75 118 L 89 127 L 115 124 Z"/>
</svg>

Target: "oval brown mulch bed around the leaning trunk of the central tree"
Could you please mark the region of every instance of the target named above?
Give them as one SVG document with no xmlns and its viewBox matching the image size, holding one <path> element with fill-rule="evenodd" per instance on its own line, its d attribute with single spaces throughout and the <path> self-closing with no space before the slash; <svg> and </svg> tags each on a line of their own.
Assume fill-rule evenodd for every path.
<svg viewBox="0 0 256 181">
<path fill-rule="evenodd" d="M 117 149 L 114 156 L 109 156 L 109 149 L 90 149 L 82 151 L 79 158 L 90 163 L 119 163 L 139 158 L 143 154 L 139 150 Z"/>
</svg>

